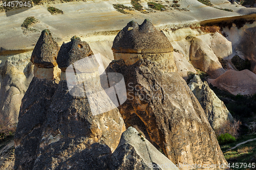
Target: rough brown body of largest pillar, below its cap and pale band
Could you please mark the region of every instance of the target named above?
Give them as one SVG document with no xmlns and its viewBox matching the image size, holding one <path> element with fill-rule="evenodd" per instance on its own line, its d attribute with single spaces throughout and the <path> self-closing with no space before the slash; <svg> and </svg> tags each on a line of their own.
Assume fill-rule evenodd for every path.
<svg viewBox="0 0 256 170">
<path fill-rule="evenodd" d="M 119 59 L 106 69 L 124 77 L 127 100 L 119 111 L 126 126 L 137 127 L 175 164 L 227 164 L 195 95 L 178 72 L 163 70 L 159 60 L 141 57 L 127 64 Z"/>
</svg>

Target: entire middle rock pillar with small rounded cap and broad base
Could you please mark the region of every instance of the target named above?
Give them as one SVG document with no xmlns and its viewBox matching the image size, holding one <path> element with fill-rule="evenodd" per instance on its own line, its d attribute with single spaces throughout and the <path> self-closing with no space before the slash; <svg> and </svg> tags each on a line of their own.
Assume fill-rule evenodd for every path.
<svg viewBox="0 0 256 170">
<path fill-rule="evenodd" d="M 61 79 L 47 111 L 33 169 L 77 169 L 79 155 L 102 147 L 104 155 L 111 154 L 125 131 L 117 108 L 99 114 L 93 112 L 95 107 L 103 107 L 91 105 L 89 95 L 98 95 L 94 89 L 101 90 L 99 95 L 102 98 L 109 97 L 100 86 L 98 63 L 89 45 L 73 37 L 60 47 L 57 63 Z M 110 99 L 108 101 L 111 102 Z"/>
</svg>

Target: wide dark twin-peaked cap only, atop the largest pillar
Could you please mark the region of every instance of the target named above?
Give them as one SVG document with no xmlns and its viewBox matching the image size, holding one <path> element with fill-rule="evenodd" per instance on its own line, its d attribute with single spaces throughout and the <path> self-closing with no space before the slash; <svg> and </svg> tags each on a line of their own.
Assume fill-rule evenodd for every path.
<svg viewBox="0 0 256 170">
<path fill-rule="evenodd" d="M 145 19 L 139 26 L 131 21 L 115 37 L 112 51 L 114 53 L 168 53 L 173 46 L 162 31 Z"/>
</svg>

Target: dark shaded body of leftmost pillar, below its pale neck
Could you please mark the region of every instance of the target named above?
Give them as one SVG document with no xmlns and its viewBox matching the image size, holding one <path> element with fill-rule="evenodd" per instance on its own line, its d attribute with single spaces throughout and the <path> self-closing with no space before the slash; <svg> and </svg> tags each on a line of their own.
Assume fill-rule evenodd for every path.
<svg viewBox="0 0 256 170">
<path fill-rule="evenodd" d="M 42 126 L 57 84 L 34 77 L 20 106 L 18 125 L 14 136 L 14 169 L 32 169 L 36 159 Z"/>
</svg>

